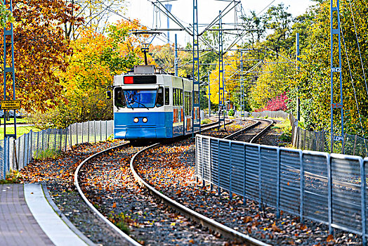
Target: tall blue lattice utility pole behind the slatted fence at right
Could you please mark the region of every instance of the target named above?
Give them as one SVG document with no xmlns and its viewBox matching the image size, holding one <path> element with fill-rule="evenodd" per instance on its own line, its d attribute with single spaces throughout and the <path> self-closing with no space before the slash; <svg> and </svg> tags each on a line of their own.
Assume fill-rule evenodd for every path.
<svg viewBox="0 0 368 246">
<path fill-rule="evenodd" d="M 341 32 L 340 32 L 340 2 L 336 0 L 336 6 L 334 6 L 334 0 L 330 1 L 330 24 L 331 24 L 331 153 L 334 152 L 334 141 L 343 142 L 343 78 L 341 71 Z M 334 16 L 337 16 L 334 18 Z M 336 66 L 336 60 L 334 60 L 334 43 L 337 41 L 339 44 L 339 63 Z M 335 40 L 334 40 L 335 39 Z M 340 103 L 334 103 L 334 75 L 338 73 L 340 79 Z M 341 110 L 341 136 L 334 136 L 334 109 Z M 342 143 L 343 145 L 343 143 Z"/>
</svg>

